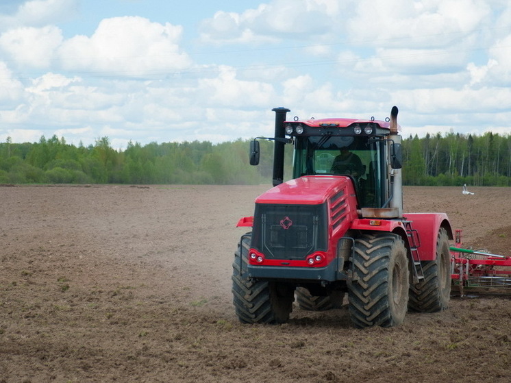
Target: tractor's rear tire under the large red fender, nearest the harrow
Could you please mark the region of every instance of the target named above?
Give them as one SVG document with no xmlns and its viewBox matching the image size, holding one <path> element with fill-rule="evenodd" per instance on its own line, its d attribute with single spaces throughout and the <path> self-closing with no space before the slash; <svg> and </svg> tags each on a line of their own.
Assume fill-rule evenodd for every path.
<svg viewBox="0 0 511 383">
<path fill-rule="evenodd" d="M 449 307 L 451 299 L 451 254 L 447 231 L 440 227 L 436 239 L 436 260 L 421 262 L 424 280 L 410 285 L 408 308 L 437 312 Z"/>
</svg>

